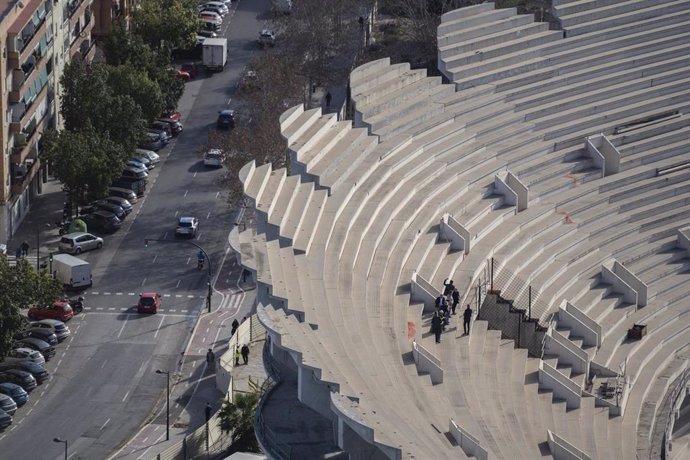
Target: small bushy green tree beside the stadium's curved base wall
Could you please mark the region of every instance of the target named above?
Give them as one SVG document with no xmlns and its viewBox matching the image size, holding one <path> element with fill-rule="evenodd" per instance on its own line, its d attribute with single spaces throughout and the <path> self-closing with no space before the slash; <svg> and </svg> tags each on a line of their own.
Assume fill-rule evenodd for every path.
<svg viewBox="0 0 690 460">
<path fill-rule="evenodd" d="M 259 444 L 254 435 L 254 417 L 259 402 L 258 393 L 238 393 L 235 402 L 223 401 L 218 411 L 220 429 L 231 433 L 234 449 L 259 452 Z"/>
</svg>

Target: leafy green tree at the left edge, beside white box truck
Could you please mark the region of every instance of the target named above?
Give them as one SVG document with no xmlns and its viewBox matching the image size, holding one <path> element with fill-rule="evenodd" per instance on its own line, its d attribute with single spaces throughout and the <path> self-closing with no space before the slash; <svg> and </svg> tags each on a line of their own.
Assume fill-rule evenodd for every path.
<svg viewBox="0 0 690 460">
<path fill-rule="evenodd" d="M 10 266 L 0 256 L 0 359 L 12 349 L 14 334 L 26 323 L 21 310 L 32 305 L 49 305 L 62 295 L 62 289 L 46 273 L 36 273 L 25 260 Z"/>
</svg>

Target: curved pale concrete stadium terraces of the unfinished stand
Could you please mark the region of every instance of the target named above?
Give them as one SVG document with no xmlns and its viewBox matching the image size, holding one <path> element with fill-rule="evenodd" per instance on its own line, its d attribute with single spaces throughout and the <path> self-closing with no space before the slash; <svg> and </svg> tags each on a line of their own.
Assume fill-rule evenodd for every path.
<svg viewBox="0 0 690 460">
<path fill-rule="evenodd" d="M 690 1 L 554 14 L 563 30 L 492 3 L 444 15 L 450 83 L 367 63 L 354 123 L 289 109 L 293 174 L 241 172 L 272 360 L 351 458 L 672 454 L 690 377 Z M 546 306 L 539 353 L 484 320 L 428 333 L 444 279 L 474 302 L 489 257 L 502 295 L 529 283 Z"/>
</svg>

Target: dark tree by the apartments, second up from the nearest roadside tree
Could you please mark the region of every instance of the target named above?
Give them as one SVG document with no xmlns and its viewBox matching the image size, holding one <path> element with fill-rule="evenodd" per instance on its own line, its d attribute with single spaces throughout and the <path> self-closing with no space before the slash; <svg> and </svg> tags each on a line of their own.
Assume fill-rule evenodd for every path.
<svg viewBox="0 0 690 460">
<path fill-rule="evenodd" d="M 142 109 L 130 95 L 116 94 L 109 77 L 106 64 L 69 62 L 60 77 L 60 113 L 67 130 L 91 127 L 131 152 L 144 136 Z"/>
</svg>

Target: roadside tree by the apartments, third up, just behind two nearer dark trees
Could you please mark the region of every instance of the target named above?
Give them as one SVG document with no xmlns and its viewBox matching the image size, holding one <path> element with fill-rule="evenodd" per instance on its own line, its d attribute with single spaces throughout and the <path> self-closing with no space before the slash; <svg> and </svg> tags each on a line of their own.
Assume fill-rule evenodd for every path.
<svg viewBox="0 0 690 460">
<path fill-rule="evenodd" d="M 164 108 L 163 94 L 157 82 L 145 71 L 131 64 L 108 66 L 108 84 L 116 95 L 130 96 L 141 108 L 148 122 L 158 117 Z"/>
</svg>

